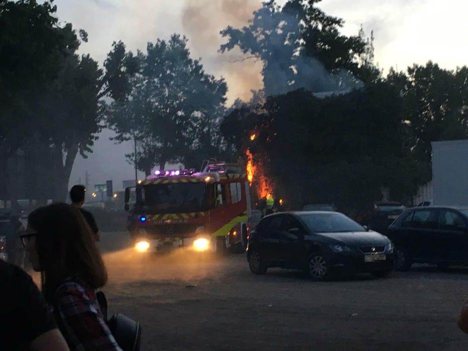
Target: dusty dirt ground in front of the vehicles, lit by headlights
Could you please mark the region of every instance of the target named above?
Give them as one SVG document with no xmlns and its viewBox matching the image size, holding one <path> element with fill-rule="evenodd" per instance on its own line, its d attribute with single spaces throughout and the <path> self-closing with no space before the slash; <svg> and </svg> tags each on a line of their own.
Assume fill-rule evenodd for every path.
<svg viewBox="0 0 468 351">
<path fill-rule="evenodd" d="M 464 350 L 468 269 L 417 266 L 388 279 L 311 282 L 250 273 L 245 255 L 142 256 L 103 233 L 109 312 L 142 325 L 142 350 Z"/>
</svg>

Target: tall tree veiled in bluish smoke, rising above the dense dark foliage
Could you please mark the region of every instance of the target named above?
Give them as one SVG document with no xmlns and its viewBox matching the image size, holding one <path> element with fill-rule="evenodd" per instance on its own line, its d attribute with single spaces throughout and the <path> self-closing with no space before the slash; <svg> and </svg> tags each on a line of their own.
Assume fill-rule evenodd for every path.
<svg viewBox="0 0 468 351">
<path fill-rule="evenodd" d="M 266 96 L 298 88 L 312 92 L 361 86 L 373 81 L 371 62 L 359 62 L 372 42 L 362 36 L 346 37 L 339 30 L 342 19 L 328 16 L 315 5 L 319 1 L 290 0 L 284 7 L 274 1 L 254 12 L 248 27 L 221 31 L 228 38 L 220 51 L 234 47 L 263 63 Z M 366 67 L 364 70 L 363 67 Z"/>
</svg>

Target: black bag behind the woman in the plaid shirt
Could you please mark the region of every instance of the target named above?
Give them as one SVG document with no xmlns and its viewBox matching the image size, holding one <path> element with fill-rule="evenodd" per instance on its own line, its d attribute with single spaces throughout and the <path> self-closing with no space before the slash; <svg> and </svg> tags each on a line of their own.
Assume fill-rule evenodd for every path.
<svg viewBox="0 0 468 351">
<path fill-rule="evenodd" d="M 107 319 L 107 298 L 102 291 L 96 293 L 96 299 L 101 307 L 104 320 L 114 336 L 115 341 L 123 351 L 139 351 L 141 342 L 141 326 L 127 316 L 117 313 Z"/>
</svg>

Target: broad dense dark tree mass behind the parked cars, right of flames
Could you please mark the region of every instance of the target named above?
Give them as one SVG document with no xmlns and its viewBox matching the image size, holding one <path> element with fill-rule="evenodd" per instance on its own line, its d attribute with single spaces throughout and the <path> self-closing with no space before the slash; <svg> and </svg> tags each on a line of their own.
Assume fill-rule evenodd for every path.
<svg viewBox="0 0 468 351">
<path fill-rule="evenodd" d="M 233 111 L 221 130 L 240 153 L 249 148 L 287 202 L 335 203 L 351 214 L 380 199 L 382 187 L 403 200 L 424 182 L 403 121 L 398 91 L 379 83 L 322 99 L 305 90 L 272 96 L 261 108 Z"/>
</svg>

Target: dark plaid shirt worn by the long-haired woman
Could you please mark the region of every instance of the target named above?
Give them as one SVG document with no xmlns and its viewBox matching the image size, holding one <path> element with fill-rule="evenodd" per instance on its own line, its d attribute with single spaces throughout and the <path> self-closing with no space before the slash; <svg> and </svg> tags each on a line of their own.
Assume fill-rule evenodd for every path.
<svg viewBox="0 0 468 351">
<path fill-rule="evenodd" d="M 77 279 L 55 292 L 56 318 L 68 346 L 77 351 L 122 351 L 107 327 L 96 293 Z"/>
</svg>

